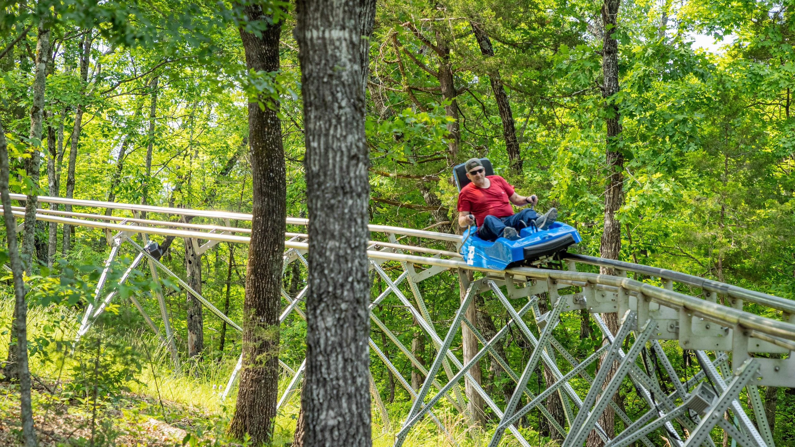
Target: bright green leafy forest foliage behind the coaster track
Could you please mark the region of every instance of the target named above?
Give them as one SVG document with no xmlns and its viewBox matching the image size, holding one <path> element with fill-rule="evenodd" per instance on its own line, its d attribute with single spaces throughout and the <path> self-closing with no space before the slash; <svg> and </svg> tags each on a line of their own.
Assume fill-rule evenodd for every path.
<svg viewBox="0 0 795 447">
<path fill-rule="evenodd" d="M 12 192 L 38 188 L 40 195 L 251 212 L 247 103 L 259 95 L 280 104 L 288 215 L 312 217 L 306 207 L 301 72 L 291 3 L 266 4 L 268 14 L 284 20 L 277 72 L 246 70 L 238 26 L 257 31 L 258 25 L 242 17 L 237 2 L 0 4 L 0 51 L 8 49 L 0 58 L 0 121 L 10 142 Z M 589 0 L 379 0 L 366 87 L 370 222 L 458 231 L 451 166 L 488 157 L 519 193 L 537 194 L 538 208 L 558 208 L 560 219 L 580 231 L 584 240 L 577 252 L 599 255 L 605 119 L 615 113 L 606 104 L 613 104 L 622 126 L 617 147 L 625 160 L 617 215 L 620 258 L 795 299 L 793 5 L 625 0 L 614 33 L 620 91 L 608 99 L 602 96 L 601 7 Z M 29 134 L 30 111 L 42 26 L 49 29 L 51 49 L 44 130 L 36 139 Z M 719 49 L 696 48 L 696 36 L 714 39 Z M 76 125 L 79 111 L 82 122 Z M 38 185 L 25 173 L 25 157 L 36 150 L 42 160 Z M 51 258 L 51 228 L 37 227 L 36 258 L 48 267 L 31 276 L 29 303 L 79 312 L 96 280 L 90 266 L 107 258 L 107 240 L 100 231 L 72 227 L 64 252 L 64 230 L 58 226 Z M 164 262 L 185 278 L 182 239 L 173 240 Z M 203 255 L 201 270 L 204 297 L 242 321 L 246 247 L 215 245 Z M 306 274 L 304 267 L 291 265 L 285 290 L 295 296 Z M 185 292 L 165 281 L 177 347 L 184 354 Z M 456 282 L 455 275 L 443 274 L 421 283 L 432 319 L 442 325 L 459 303 Z M 157 314 L 157 305 L 144 279 L 125 287 L 121 307 L 100 326 L 131 343 L 146 326 L 130 311 L 129 295 L 149 297 L 150 314 Z M 385 288 L 373 278 L 373 296 Z M 385 301 L 376 314 L 428 363 L 433 345 L 405 319 L 399 304 Z M 488 297 L 479 303 L 490 319 L 504 317 L 490 314 L 497 309 Z M 580 331 L 579 319 L 564 323 L 561 331 Z M 281 360 L 295 369 L 304 357 L 305 324 L 293 315 L 282 329 Z M 32 362 L 54 349 L 50 343 L 66 343 L 64 334 L 73 331 L 42 328 L 41 339 L 31 342 Z M 371 337 L 387 355 L 397 356 L 378 328 Z M 133 359 L 118 340 L 116 348 L 108 347 L 122 359 L 116 372 L 138 377 L 152 359 Z M 569 337 L 567 348 L 592 352 L 599 341 L 580 331 L 579 338 Z M 509 359 L 524 359 L 523 343 L 507 341 Z M 228 371 L 239 353 L 239 334 L 205 313 L 204 354 L 191 360 L 196 367 L 219 364 Z M 165 356 L 157 358 L 168 367 Z M 412 375 L 408 361 L 396 362 Z M 482 363 L 490 391 L 510 381 Z M 409 396 L 392 373 L 374 362 L 373 374 L 384 400 L 398 412 L 408 410 Z M 413 375 L 421 378 L 417 371 Z M 223 379 L 213 380 L 208 386 L 220 386 Z M 80 383 L 70 392 L 80 393 Z M 795 396 L 789 398 L 795 406 Z M 525 424 L 549 437 L 543 422 Z M 795 439 L 791 421 L 781 418 L 779 427 L 777 439 Z"/>
</svg>

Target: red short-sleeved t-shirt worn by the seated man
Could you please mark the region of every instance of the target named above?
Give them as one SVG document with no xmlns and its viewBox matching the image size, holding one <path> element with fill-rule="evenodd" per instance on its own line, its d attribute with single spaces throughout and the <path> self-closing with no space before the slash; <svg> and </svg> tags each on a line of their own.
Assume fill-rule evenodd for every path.
<svg viewBox="0 0 795 447">
<path fill-rule="evenodd" d="M 500 176 L 487 176 L 491 182 L 488 188 L 478 188 L 469 183 L 458 193 L 458 211 L 468 211 L 475 215 L 475 223 L 480 226 L 486 216 L 505 217 L 514 214 L 508 197 L 514 195 L 514 187 Z"/>
</svg>

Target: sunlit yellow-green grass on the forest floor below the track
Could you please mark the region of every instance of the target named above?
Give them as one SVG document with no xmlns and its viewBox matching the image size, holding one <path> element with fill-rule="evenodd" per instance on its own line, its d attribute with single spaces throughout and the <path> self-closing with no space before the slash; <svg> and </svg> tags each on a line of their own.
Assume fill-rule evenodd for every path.
<svg viewBox="0 0 795 447">
<path fill-rule="evenodd" d="M 10 297 L 0 298 L 2 327 L 8 327 L 12 310 L 13 301 Z M 96 403 L 99 418 L 92 423 L 94 402 L 91 393 L 84 392 L 85 389 L 91 391 L 91 383 L 83 387 L 80 379 L 91 373 L 91 365 L 94 365 L 91 363 L 91 351 L 84 348 L 85 351 L 72 354 L 57 343 L 45 342 L 47 339 L 74 340 L 79 320 L 77 313 L 64 307 L 29 309 L 28 333 L 35 352 L 30 364 L 34 378 L 33 405 L 42 445 L 87 445 L 91 426 L 95 427 L 95 445 L 180 445 L 185 433 L 191 433 L 194 440 L 204 438 L 215 440 L 217 445 L 235 444 L 225 439 L 223 430 L 234 411 L 236 387 L 233 387 L 225 402 L 221 402 L 220 395 L 235 367 L 237 356 L 227 355 L 217 362 L 184 362 L 182 374 L 177 375 L 170 365 L 168 352 L 157 346 L 159 341 L 149 332 L 114 332 L 113 328 L 106 331 L 110 332 L 105 335 L 108 343 L 116 340 L 124 342 L 122 344 L 132 344 L 136 351 L 142 353 L 138 356 L 141 370 L 136 370 L 128 378 L 130 380 L 122 380 L 126 383 L 115 383 L 119 387 L 118 391 L 99 396 Z M 3 356 L 7 348 L 6 333 L 0 338 L 0 353 Z M 279 385 L 280 395 L 288 383 L 289 377 L 283 375 Z M 121 385 L 126 385 L 127 389 L 121 390 Z M 83 390 L 82 395 L 80 389 Z M 5 438 L 0 437 L 0 445 L 14 445 L 13 442 L 8 443 L 12 439 L 18 442 L 19 406 L 15 390 L 14 386 L 0 387 L 0 424 L 9 428 L 0 432 L 7 435 Z M 294 391 L 280 409 L 275 421 L 273 445 L 292 443 L 300 392 Z M 392 430 L 386 430 L 385 422 L 374 408 L 372 439 L 375 447 L 394 444 L 394 436 L 408 413 L 410 402 L 394 402 L 386 406 Z M 434 414 L 448 427 L 458 445 L 467 447 L 488 442 L 488 433 L 472 429 L 466 418 L 452 407 L 436 406 Z M 528 440 L 539 439 L 538 433 L 533 430 L 522 429 L 522 432 Z M 413 427 L 404 445 L 430 447 L 450 445 L 450 442 L 430 418 L 424 418 Z M 518 445 L 518 441 L 506 434 L 501 445 Z"/>
</svg>

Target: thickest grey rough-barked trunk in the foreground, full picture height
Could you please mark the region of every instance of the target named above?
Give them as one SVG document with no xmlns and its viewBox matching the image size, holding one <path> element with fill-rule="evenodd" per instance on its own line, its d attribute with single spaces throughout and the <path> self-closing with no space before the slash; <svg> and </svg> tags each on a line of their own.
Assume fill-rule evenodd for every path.
<svg viewBox="0 0 795 447">
<path fill-rule="evenodd" d="M 374 0 L 297 2 L 310 218 L 301 398 L 309 447 L 372 444 L 364 81 L 374 9 Z"/>
</svg>

